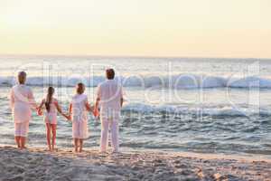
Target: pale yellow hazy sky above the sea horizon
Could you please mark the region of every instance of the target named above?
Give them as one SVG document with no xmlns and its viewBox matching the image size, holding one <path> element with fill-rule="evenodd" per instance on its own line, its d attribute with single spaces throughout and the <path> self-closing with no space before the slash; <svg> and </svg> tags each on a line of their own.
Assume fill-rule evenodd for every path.
<svg viewBox="0 0 271 181">
<path fill-rule="evenodd" d="M 270 0 L 0 0 L 0 54 L 271 58 Z"/>
</svg>

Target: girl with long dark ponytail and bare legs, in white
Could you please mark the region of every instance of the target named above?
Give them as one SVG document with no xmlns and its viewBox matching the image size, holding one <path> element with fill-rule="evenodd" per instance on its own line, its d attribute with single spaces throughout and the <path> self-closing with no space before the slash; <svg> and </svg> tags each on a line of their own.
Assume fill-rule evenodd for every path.
<svg viewBox="0 0 271 181">
<path fill-rule="evenodd" d="M 45 106 L 46 111 L 44 113 L 44 122 L 46 124 L 47 146 L 50 151 L 53 151 L 55 148 L 58 112 L 60 112 L 65 118 L 69 119 L 67 115 L 62 113 L 61 106 L 59 105 L 58 100 L 53 98 L 53 94 L 53 87 L 49 87 L 46 99 L 42 100 L 38 110 L 39 115 L 42 115 L 42 108 Z"/>
</svg>

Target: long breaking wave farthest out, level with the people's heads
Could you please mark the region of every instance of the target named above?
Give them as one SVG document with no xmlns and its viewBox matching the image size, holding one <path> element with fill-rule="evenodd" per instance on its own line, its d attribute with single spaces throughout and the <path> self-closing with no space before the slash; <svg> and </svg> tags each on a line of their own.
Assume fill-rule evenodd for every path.
<svg viewBox="0 0 271 181">
<path fill-rule="evenodd" d="M 129 76 L 117 77 L 117 80 L 125 87 L 163 87 L 173 89 L 207 89 L 207 88 L 260 88 L 271 89 L 271 80 L 257 76 L 249 77 L 220 77 L 196 74 L 179 74 L 172 76 Z M 78 82 L 84 82 L 89 87 L 96 87 L 102 81 L 103 76 L 93 77 L 29 77 L 27 84 L 31 86 L 53 85 L 70 87 Z M 14 77 L 0 77 L 0 85 L 12 86 Z"/>
</svg>

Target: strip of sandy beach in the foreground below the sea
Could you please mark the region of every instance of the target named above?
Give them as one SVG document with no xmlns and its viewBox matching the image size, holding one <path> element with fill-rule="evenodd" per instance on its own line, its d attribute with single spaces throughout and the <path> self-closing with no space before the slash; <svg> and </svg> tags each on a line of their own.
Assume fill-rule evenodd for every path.
<svg viewBox="0 0 271 181">
<path fill-rule="evenodd" d="M 164 152 L 0 148 L 0 180 L 271 180 L 271 162 Z"/>
</svg>

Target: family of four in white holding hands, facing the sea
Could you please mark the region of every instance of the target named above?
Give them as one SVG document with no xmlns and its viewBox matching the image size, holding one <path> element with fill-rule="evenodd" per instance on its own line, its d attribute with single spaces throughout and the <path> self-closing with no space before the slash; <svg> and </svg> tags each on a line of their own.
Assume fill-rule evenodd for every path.
<svg viewBox="0 0 271 181">
<path fill-rule="evenodd" d="M 44 117 L 46 124 L 47 145 L 50 151 L 55 149 L 57 114 L 58 112 L 72 122 L 72 138 L 75 152 L 82 152 L 83 140 L 88 138 L 88 113 L 91 112 L 101 121 L 100 152 L 107 152 L 108 130 L 111 131 L 111 145 L 113 153 L 119 151 L 118 120 L 123 105 L 123 88 L 115 80 L 115 71 L 107 69 L 107 81 L 98 85 L 97 99 L 94 106 L 90 106 L 85 91 L 85 85 L 76 85 L 75 95 L 70 100 L 67 113 L 61 110 L 59 101 L 54 98 L 54 88 L 49 87 L 47 96 L 38 105 L 33 97 L 33 91 L 25 85 L 26 73 L 18 73 L 18 83 L 10 92 L 10 104 L 14 118 L 14 139 L 18 148 L 25 148 L 32 111 Z"/>
</svg>

